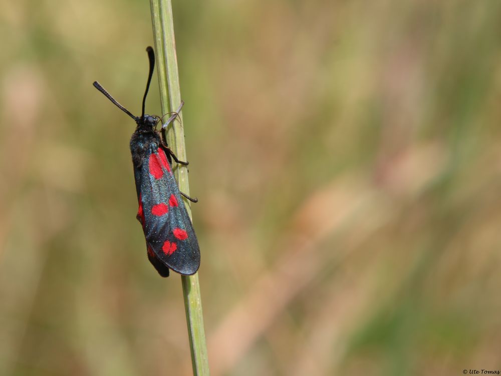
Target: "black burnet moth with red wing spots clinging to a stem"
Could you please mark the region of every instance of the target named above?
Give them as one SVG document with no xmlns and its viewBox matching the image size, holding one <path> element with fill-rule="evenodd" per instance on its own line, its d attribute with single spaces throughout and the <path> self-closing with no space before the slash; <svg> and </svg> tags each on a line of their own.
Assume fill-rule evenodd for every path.
<svg viewBox="0 0 501 376">
<path fill-rule="evenodd" d="M 146 95 L 155 66 L 153 49 L 148 47 L 146 51 L 150 70 L 140 117 L 132 115 L 97 81 L 93 85 L 137 124 L 130 139 L 130 151 L 139 202 L 137 219 L 143 226 L 148 259 L 162 277 L 169 275 L 169 268 L 180 274 L 190 275 L 200 266 L 200 249 L 181 195 L 193 202 L 197 200 L 179 192 L 172 174 L 171 158 L 183 165 L 188 163 L 176 158 L 165 139 L 165 128 L 178 116 L 183 102 L 177 112 L 172 113 L 162 125 L 160 137 L 156 125 L 161 118 L 144 114 Z"/>
</svg>

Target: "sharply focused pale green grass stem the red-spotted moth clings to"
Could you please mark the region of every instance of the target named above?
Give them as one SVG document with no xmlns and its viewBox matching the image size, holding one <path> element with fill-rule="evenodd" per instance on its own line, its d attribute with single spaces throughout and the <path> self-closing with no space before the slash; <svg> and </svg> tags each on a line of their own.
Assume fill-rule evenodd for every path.
<svg viewBox="0 0 501 376">
<path fill-rule="evenodd" d="M 150 0 L 150 5 L 162 113 L 166 114 L 175 111 L 181 103 L 172 4 L 170 0 Z M 187 159 L 184 145 L 184 122 L 182 121 L 182 112 L 180 114 L 180 120 L 181 122 L 176 121 L 174 126 L 169 127 L 167 141 L 176 156 L 180 160 L 185 161 Z M 178 165 L 178 168 L 174 169 L 174 174 L 181 192 L 189 195 L 187 168 Z M 190 202 L 184 199 L 184 203 L 191 218 Z M 181 276 L 181 280 L 193 374 L 196 376 L 207 376 L 209 374 L 209 366 L 207 346 L 205 343 L 205 331 L 203 328 L 202 301 L 200 297 L 198 273 L 190 276 L 183 275 Z"/>
</svg>

